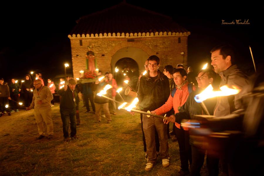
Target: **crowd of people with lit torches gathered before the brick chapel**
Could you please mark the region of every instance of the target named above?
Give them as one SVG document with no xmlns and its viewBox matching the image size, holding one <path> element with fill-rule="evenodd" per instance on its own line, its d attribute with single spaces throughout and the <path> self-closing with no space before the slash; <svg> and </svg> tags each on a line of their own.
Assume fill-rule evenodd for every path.
<svg viewBox="0 0 264 176">
<path fill-rule="evenodd" d="M 170 155 L 168 139 L 172 138 L 179 144 L 179 153 L 181 161 L 180 175 L 200 175 L 200 170 L 204 164 L 205 153 L 207 152 L 207 168 L 209 175 L 219 174 L 219 163 L 221 163 L 224 175 L 232 173 L 232 167 L 225 158 L 217 158 L 207 151 L 206 148 L 200 148 L 195 144 L 190 129 L 182 126 L 183 119 L 196 119 L 196 115 L 206 114 L 204 109 L 194 100 L 194 96 L 202 92 L 210 84 L 214 90 L 227 85 L 236 86 L 243 89 L 248 82 L 248 77 L 237 68 L 236 58 L 229 45 L 221 45 L 211 50 L 211 65 L 204 70 L 200 70 L 197 75 L 194 74 L 192 67 L 187 71 L 184 65 L 178 64 L 166 65 L 163 70 L 159 70 L 160 59 L 156 55 L 150 56 L 145 61 L 146 74 L 143 72 L 138 78 L 136 86 L 137 97 L 139 99 L 137 109 L 142 111 L 151 111 L 152 114 L 167 114 L 167 119 L 141 114 L 141 128 L 143 133 L 143 149 L 145 159 L 147 160 L 145 170 L 150 171 L 156 164 L 157 158 L 162 160 L 163 167 L 169 167 Z M 98 78 L 102 77 L 101 71 Z M 94 83 L 77 84 L 73 78 L 68 78 L 59 85 L 57 93 L 60 95 L 60 114 L 63 123 L 63 136 L 65 141 L 77 138 L 76 125 L 80 124 L 79 119 L 79 96 L 80 92 L 83 100 L 83 107 L 86 107 L 86 113 L 93 113 L 96 116 L 96 123 L 101 122 L 104 117 L 107 123 L 111 123 L 111 113 L 116 115 L 116 103 L 100 96 L 94 96 L 99 93 L 107 84 L 112 86 L 105 96 L 116 99 L 116 89 L 118 88 L 116 80 L 111 73 L 106 72 L 105 78 Z M 45 137 L 53 138 L 53 123 L 51 118 L 51 106 L 54 105 L 53 96 L 55 94 L 55 84 L 48 79 L 47 86 L 44 86 L 40 74 L 36 74 L 37 79 L 34 82 L 30 75 L 25 76 L 25 82 L 20 86 L 12 79 L 12 83 L 4 83 L 0 79 L 0 103 L 1 113 L 8 111 L 4 105 L 8 100 L 14 100 L 11 107 L 18 111 L 19 94 L 23 92 L 25 106 L 27 110 L 34 108 L 35 119 L 37 121 L 39 136 L 37 139 Z M 129 77 L 126 77 L 129 79 Z M 241 91 L 242 92 L 242 91 Z M 226 116 L 232 112 L 243 109 L 241 102 L 242 94 L 234 96 L 216 97 L 204 101 L 209 115 L 214 117 Z M 89 106 L 92 106 L 92 111 Z M 109 108 L 110 107 L 110 108 Z M 207 114 L 208 114 L 207 113 Z M 103 116 L 104 114 L 104 116 Z M 133 114 L 133 112 L 131 112 Z M 44 132 L 43 121 L 47 125 L 47 132 Z M 172 123 L 172 131 L 169 124 Z M 68 133 L 70 125 L 70 137 Z M 205 143 L 205 142 L 204 142 Z M 190 168 L 190 170 L 189 170 Z"/>
</svg>

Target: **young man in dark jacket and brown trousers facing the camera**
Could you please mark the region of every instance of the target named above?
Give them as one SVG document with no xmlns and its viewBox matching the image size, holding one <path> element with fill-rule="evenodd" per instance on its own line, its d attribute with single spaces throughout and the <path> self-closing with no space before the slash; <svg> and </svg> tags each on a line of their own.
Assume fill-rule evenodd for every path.
<svg viewBox="0 0 264 176">
<path fill-rule="evenodd" d="M 158 70 L 160 59 L 156 55 L 148 58 L 149 71 L 140 78 L 138 99 L 139 107 L 143 111 L 153 111 L 162 106 L 170 95 L 170 86 L 168 78 Z M 168 167 L 169 163 L 169 145 L 166 134 L 166 125 L 163 120 L 157 117 L 147 117 L 143 114 L 143 130 L 147 144 L 148 160 L 145 167 L 146 171 L 153 168 L 157 160 L 155 146 L 155 128 L 160 140 L 160 158 L 162 158 L 163 167 Z"/>
</svg>

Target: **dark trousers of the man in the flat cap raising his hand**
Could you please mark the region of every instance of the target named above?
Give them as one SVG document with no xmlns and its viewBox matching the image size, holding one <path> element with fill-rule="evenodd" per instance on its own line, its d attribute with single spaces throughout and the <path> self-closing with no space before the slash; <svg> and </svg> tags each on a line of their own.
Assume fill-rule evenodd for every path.
<svg viewBox="0 0 264 176">
<path fill-rule="evenodd" d="M 73 137 L 76 134 L 76 110 L 73 109 L 71 111 L 60 109 L 60 116 L 62 120 L 62 128 L 63 128 L 63 136 L 64 138 L 69 137 L 69 123 L 71 128 L 71 137 Z"/>
</svg>

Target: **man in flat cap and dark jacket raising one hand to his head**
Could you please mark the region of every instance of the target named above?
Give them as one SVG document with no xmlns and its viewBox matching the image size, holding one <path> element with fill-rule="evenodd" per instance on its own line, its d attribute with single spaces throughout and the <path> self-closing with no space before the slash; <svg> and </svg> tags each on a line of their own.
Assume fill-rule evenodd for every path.
<svg viewBox="0 0 264 176">
<path fill-rule="evenodd" d="M 77 139 L 76 136 L 76 106 L 79 103 L 78 92 L 75 90 L 77 82 L 74 79 L 69 79 L 69 85 L 66 85 L 58 90 L 61 96 L 60 115 L 62 119 L 63 136 L 65 141 L 70 141 L 69 138 L 69 122 L 71 127 L 71 138 Z"/>
</svg>

